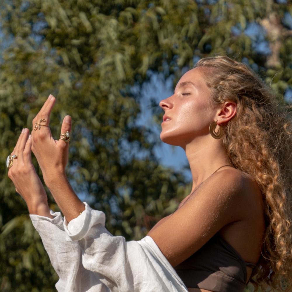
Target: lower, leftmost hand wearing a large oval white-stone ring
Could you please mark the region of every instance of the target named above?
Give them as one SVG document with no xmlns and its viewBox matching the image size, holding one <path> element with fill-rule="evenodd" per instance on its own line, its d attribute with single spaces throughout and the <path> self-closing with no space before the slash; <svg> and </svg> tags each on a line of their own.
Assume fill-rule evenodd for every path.
<svg viewBox="0 0 292 292">
<path fill-rule="evenodd" d="M 8 170 L 8 177 L 15 185 L 15 190 L 25 200 L 30 213 L 37 213 L 40 206 L 48 205 L 48 198 L 31 159 L 32 139 L 28 129 L 23 129 L 11 155 L 16 154 L 13 165 Z"/>
</svg>

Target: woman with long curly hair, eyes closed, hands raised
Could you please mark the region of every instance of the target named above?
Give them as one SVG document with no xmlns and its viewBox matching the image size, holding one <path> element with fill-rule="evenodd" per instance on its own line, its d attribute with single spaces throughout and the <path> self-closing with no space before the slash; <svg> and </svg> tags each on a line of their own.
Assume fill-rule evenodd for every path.
<svg viewBox="0 0 292 292">
<path fill-rule="evenodd" d="M 104 224 L 101 212 L 96 213 L 99 211 L 90 209 L 74 194 L 65 175 L 71 119 L 65 117 L 61 139 L 54 140 L 48 127 L 54 102 L 50 95 L 33 120 L 36 128 L 32 139 L 28 129 L 20 135 L 11 154 L 18 157 L 11 158 L 13 166 L 8 175 L 34 214 L 32 221 L 53 267 L 61 275 L 60 281 L 61 277 L 64 283 L 67 281 L 62 287 L 68 287 L 68 272 L 64 272 L 60 260 L 55 260 L 58 250 L 46 239 L 46 232 L 51 225 L 63 224 L 60 236 L 54 238 L 65 238 L 62 248 L 76 251 L 74 269 L 81 269 L 81 274 L 91 271 L 104 276 L 98 278 L 101 286 L 95 283 L 100 290 L 92 291 L 186 291 L 185 287 L 191 292 L 243 291 L 252 276 L 256 286 L 281 289 L 286 284 L 286 291 L 292 291 L 290 118 L 246 65 L 227 57 L 201 59 L 181 77 L 174 94 L 160 102 L 165 112 L 161 140 L 183 147 L 193 185 L 177 210 L 160 220 L 138 247 L 111 237 L 100 227 Z M 66 220 L 50 212 L 31 164 L 30 149 Z M 46 222 L 45 227 L 40 227 L 42 222 Z M 155 279 L 145 278 L 139 265 L 135 266 L 131 253 L 136 251 L 143 253 L 139 260 L 150 258 L 152 264 L 158 263 L 139 263 Z M 118 262 L 124 253 L 124 268 L 111 264 L 112 258 Z M 75 280 L 79 272 L 75 272 Z M 157 275 L 162 278 L 157 280 Z M 93 275 L 87 277 L 92 279 Z M 122 282 L 123 278 L 126 281 Z M 160 290 L 143 290 L 136 278 L 147 285 L 171 281 L 174 288 L 170 290 L 167 282 L 165 288 L 161 288 L 163 284 L 157 288 Z M 66 289 L 75 291 L 82 286 L 78 283 Z M 90 287 L 80 291 L 91 291 Z"/>
</svg>

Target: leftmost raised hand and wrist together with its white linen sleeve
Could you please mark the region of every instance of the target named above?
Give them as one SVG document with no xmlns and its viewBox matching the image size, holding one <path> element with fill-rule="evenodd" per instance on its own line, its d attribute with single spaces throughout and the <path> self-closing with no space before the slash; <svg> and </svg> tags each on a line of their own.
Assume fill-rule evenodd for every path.
<svg viewBox="0 0 292 292">
<path fill-rule="evenodd" d="M 72 292 L 82 286 L 78 291 L 106 291 L 97 275 L 84 269 L 81 264 L 78 242 L 66 241 L 61 213 L 49 209 L 44 186 L 31 161 L 31 144 L 29 130 L 23 129 L 11 157 L 8 157 L 8 177 L 25 200 L 32 224 L 39 232 L 51 264 L 60 277 L 56 284 L 57 290 Z M 82 283 L 83 279 L 88 281 Z"/>
</svg>

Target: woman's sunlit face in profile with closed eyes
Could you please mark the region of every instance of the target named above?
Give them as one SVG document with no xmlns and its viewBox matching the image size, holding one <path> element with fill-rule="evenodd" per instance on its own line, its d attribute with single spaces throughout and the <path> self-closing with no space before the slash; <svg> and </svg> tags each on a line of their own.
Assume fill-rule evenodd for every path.
<svg viewBox="0 0 292 292">
<path fill-rule="evenodd" d="M 159 103 L 165 112 L 161 140 L 185 149 L 185 145 L 196 137 L 208 135 L 216 113 L 210 100 L 211 91 L 204 81 L 202 69 L 186 72 L 178 81 L 174 94 Z"/>
</svg>

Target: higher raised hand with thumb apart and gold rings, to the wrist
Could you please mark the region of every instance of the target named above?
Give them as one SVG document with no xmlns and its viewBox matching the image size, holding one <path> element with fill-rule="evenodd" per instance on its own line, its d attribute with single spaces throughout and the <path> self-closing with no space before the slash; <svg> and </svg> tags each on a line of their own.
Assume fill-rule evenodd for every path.
<svg viewBox="0 0 292 292">
<path fill-rule="evenodd" d="M 62 140 L 64 135 L 60 135 L 59 140 L 52 137 L 48 126 L 50 114 L 56 99 L 50 95 L 43 107 L 32 121 L 32 152 L 34 153 L 39 166 L 43 172 L 44 180 L 52 179 L 55 175 L 65 174 L 65 167 L 68 161 L 69 143 Z M 38 124 L 36 124 L 38 123 Z M 71 117 L 66 116 L 61 127 L 61 134 L 71 131 Z"/>
</svg>

